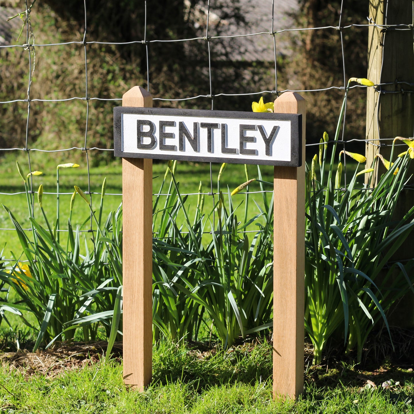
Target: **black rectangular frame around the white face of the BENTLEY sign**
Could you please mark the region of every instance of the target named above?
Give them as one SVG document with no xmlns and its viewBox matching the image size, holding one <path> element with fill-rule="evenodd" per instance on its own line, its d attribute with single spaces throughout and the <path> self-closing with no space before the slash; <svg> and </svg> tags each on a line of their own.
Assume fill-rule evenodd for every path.
<svg viewBox="0 0 414 414">
<path fill-rule="evenodd" d="M 235 159 L 226 157 L 201 157 L 197 155 L 176 155 L 150 153 L 124 153 L 122 151 L 122 114 L 144 115 L 173 115 L 198 116 L 203 118 L 233 118 L 233 119 L 263 119 L 277 121 L 291 121 L 291 160 L 255 160 L 253 158 Z M 157 160 L 182 160 L 200 162 L 229 162 L 232 164 L 274 165 L 281 167 L 301 167 L 302 165 L 302 115 L 301 114 L 274 114 L 271 112 L 243 112 L 243 111 L 210 111 L 207 109 L 175 109 L 175 108 L 136 108 L 114 107 L 113 109 L 113 148 L 115 157 L 123 158 L 151 158 Z"/>
</svg>

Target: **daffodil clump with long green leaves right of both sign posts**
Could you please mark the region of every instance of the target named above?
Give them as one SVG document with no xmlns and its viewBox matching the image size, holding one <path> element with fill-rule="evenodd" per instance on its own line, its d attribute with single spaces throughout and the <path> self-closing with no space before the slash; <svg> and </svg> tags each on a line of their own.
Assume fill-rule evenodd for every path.
<svg viewBox="0 0 414 414">
<path fill-rule="evenodd" d="M 369 184 L 356 185 L 358 169 L 341 189 L 342 164 L 335 184 L 333 170 L 342 113 L 328 171 L 327 144 L 321 140 L 320 179 L 317 155 L 307 176 L 305 328 L 315 349 L 313 363 L 320 363 L 332 337 L 342 337 L 347 353 L 356 349 L 360 362 L 374 324 L 382 319 L 389 332 L 385 312 L 410 289 L 414 291 L 414 278 L 407 273 L 413 261 L 405 266 L 391 261 L 414 226 L 414 207 L 403 218 L 395 218 L 410 157 L 399 158 L 373 189 Z M 361 155 L 349 155 L 365 161 Z"/>
</svg>

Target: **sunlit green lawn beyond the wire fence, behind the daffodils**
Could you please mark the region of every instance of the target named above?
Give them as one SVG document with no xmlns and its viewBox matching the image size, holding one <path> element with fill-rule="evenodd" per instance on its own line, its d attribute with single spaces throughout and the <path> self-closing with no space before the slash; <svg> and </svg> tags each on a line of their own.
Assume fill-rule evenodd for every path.
<svg viewBox="0 0 414 414">
<path fill-rule="evenodd" d="M 27 163 L 27 157 L 20 155 L 17 160 L 22 166 L 25 173 L 29 172 Z M 68 158 L 64 160 L 70 162 Z M 45 155 L 45 153 L 34 153 L 31 155 L 31 169 L 40 170 L 43 172 L 41 176 L 33 177 L 33 189 L 37 191 L 40 184 L 43 184 L 44 193 L 56 192 L 56 165 L 53 157 Z M 69 216 L 69 204 L 70 197 L 73 192 L 73 186 L 79 186 L 83 191 L 88 189 L 88 172 L 85 167 L 86 162 L 80 162 L 80 167 L 75 169 L 60 169 L 60 192 L 70 193 L 67 195 L 60 196 L 60 212 L 61 212 L 61 228 L 65 228 L 67 217 Z M 217 174 L 219 172 L 221 164 L 212 164 L 212 177 L 213 177 L 213 192 L 217 191 Z M 350 162 L 347 163 L 347 175 L 351 176 L 354 172 L 356 164 Z M 155 194 L 159 186 L 161 185 L 166 169 L 166 162 L 157 162 L 153 164 L 153 193 Z M 263 165 L 260 167 L 262 171 L 262 177 L 265 181 L 273 181 L 273 167 Z M 249 178 L 257 178 L 257 167 L 255 165 L 248 166 Z M 114 161 L 110 165 L 91 167 L 90 168 L 90 182 L 92 192 L 101 192 L 101 185 L 103 179 L 107 179 L 107 187 L 105 201 L 103 204 L 103 217 L 106 217 L 112 210 L 116 210 L 122 201 L 122 196 L 112 196 L 111 193 L 120 194 L 122 193 L 122 167 L 119 160 Z M 180 190 L 182 193 L 195 193 L 198 191 L 200 181 L 203 184 L 203 192 L 210 192 L 210 171 L 208 163 L 188 163 L 179 162 L 177 167 L 177 179 L 180 182 Z M 244 165 L 242 164 L 229 164 L 221 178 L 221 189 L 226 191 L 229 186 L 230 191 L 236 188 L 238 185 L 246 181 L 244 172 Z M 164 186 L 164 192 L 168 186 Z M 250 184 L 250 191 L 259 191 L 258 183 Z M 271 190 L 271 188 L 269 188 Z M 1 193 L 17 193 L 24 191 L 24 186 L 21 177 L 19 176 L 16 168 L 16 157 L 8 155 L 7 157 L 0 158 L 0 192 Z M 35 196 L 35 217 L 39 219 L 39 222 L 44 225 L 43 217 L 41 217 L 40 208 L 37 203 L 36 194 Z M 217 196 L 215 196 L 217 201 Z M 243 201 L 244 197 L 238 195 L 240 201 Z M 92 202 L 96 208 L 99 207 L 99 194 L 92 196 Z M 258 208 L 255 206 L 254 201 L 261 203 L 261 194 L 251 194 L 249 209 L 251 215 L 258 213 Z M 28 219 L 27 203 L 25 194 L 18 195 L 0 195 L 1 203 L 5 204 L 16 218 L 23 228 L 30 228 L 30 222 Z M 195 212 L 195 206 L 197 204 L 197 196 L 190 196 L 190 214 Z M 205 196 L 205 212 L 209 212 L 212 208 L 212 197 Z M 48 215 L 49 219 L 55 219 L 56 217 L 56 196 L 54 194 L 43 195 L 43 207 Z M 182 217 L 181 217 L 182 216 Z M 81 225 L 84 220 L 89 217 L 89 208 L 87 205 L 77 198 L 75 201 L 75 208 L 72 216 L 72 223 L 74 225 Z M 182 218 L 184 221 L 184 215 L 181 212 L 178 218 Z M 6 211 L 0 206 L 0 228 L 12 228 L 12 223 L 7 215 Z M 84 227 L 84 230 L 89 229 L 89 222 Z M 206 229 L 209 230 L 209 229 Z M 65 240 L 65 238 L 64 238 Z M 210 240 L 206 239 L 206 242 Z M 14 230 L 0 230 L 0 251 L 2 247 L 7 243 L 4 255 L 10 258 L 10 251 L 19 257 L 21 247 L 17 234 Z"/>
</svg>

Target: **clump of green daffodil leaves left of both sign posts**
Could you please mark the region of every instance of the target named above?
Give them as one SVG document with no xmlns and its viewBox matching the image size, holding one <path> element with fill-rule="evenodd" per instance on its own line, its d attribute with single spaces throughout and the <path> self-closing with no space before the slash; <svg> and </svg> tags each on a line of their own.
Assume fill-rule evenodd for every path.
<svg viewBox="0 0 414 414">
<path fill-rule="evenodd" d="M 18 164 L 17 166 L 24 179 L 22 169 Z M 99 237 L 95 239 L 92 234 L 92 249 L 89 248 L 85 237 L 84 254 L 82 254 L 81 230 L 79 226 L 76 229 L 72 228 L 73 196 L 70 216 L 67 220 L 67 240 L 65 243 L 60 243 L 59 210 L 56 220 L 51 224 L 43 209 L 43 186 L 40 186 L 38 201 L 46 227 L 39 224 L 39 221 L 33 217 L 34 201 L 28 193 L 25 179 L 24 185 L 33 229 L 32 239 L 22 229 L 12 211 L 6 206 L 3 207 L 14 225 L 23 249 L 22 255 L 27 263 L 23 264 L 12 253 L 14 264 L 9 266 L 8 271 L 0 269 L 0 279 L 12 287 L 19 297 L 12 307 L 19 312 L 31 312 L 36 317 L 37 327 L 21 315 L 24 323 L 39 332 L 34 349 L 37 349 L 41 343 L 54 341 L 62 333 L 64 339 L 70 341 L 76 327 L 83 328 L 85 341 L 95 340 L 99 324 L 94 322 L 103 324 L 109 337 L 111 324 L 107 319 L 112 314 L 101 315 L 101 312 L 119 306 L 117 291 L 118 286 L 122 284 L 120 271 L 122 210 L 118 208 L 118 211 L 108 215 L 104 223 L 101 222 L 105 194 L 104 181 L 99 219 L 92 213 Z M 88 235 L 88 233 L 84 234 Z M 1 305 L 8 306 L 6 302 Z M 94 314 L 98 316 L 91 317 Z M 85 319 L 88 323 L 85 323 Z"/>
</svg>

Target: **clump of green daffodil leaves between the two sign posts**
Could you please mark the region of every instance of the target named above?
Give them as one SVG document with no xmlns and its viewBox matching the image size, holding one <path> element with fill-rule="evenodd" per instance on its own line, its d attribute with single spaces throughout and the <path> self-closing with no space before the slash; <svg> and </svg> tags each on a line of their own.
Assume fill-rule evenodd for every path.
<svg viewBox="0 0 414 414">
<path fill-rule="evenodd" d="M 197 339 L 206 314 L 221 343 L 231 346 L 240 334 L 245 338 L 272 324 L 273 199 L 269 202 L 263 193 L 260 213 L 247 218 L 246 207 L 245 219 L 239 223 L 236 211 L 243 201 L 234 208 L 228 191 L 226 206 L 218 180 L 219 200 L 212 211 L 205 216 L 204 196 L 200 195 L 194 219 L 190 220 L 187 197 L 180 194 L 174 169 L 170 169 L 171 195 L 166 197 L 164 208 L 158 207 L 159 198 L 154 203 L 154 223 L 157 215 L 162 215 L 154 229 L 154 335 Z M 164 182 L 167 174 L 168 170 Z M 258 174 L 261 178 L 260 169 Z M 245 197 L 247 206 L 248 189 Z M 180 209 L 185 220 L 178 227 Z M 208 222 L 214 229 L 211 235 L 205 234 Z M 259 230 L 249 241 L 243 231 L 251 224 L 257 224 Z"/>
</svg>

